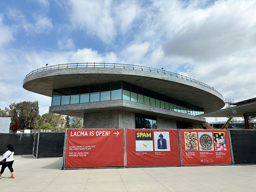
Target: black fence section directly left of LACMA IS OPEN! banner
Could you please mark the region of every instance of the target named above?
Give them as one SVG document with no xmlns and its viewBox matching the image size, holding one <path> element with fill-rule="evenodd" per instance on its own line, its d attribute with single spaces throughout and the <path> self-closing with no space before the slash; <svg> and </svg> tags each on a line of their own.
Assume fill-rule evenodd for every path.
<svg viewBox="0 0 256 192">
<path fill-rule="evenodd" d="M 36 158 L 62 157 L 65 132 L 35 134 L 33 155 Z"/>
</svg>

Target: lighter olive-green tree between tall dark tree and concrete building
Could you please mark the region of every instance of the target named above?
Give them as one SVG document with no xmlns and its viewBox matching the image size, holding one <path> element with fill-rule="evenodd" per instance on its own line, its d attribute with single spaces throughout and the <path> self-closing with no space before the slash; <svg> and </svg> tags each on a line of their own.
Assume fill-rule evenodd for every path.
<svg viewBox="0 0 256 192">
<path fill-rule="evenodd" d="M 45 113 L 40 118 L 40 125 L 44 123 L 48 123 L 54 127 L 53 131 L 59 131 L 59 129 L 64 126 L 65 119 L 62 114 Z"/>
</svg>

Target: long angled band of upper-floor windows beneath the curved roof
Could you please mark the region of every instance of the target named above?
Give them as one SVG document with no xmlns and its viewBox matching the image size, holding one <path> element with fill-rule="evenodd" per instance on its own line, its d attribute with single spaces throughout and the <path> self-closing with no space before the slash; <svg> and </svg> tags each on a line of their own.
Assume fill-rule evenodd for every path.
<svg viewBox="0 0 256 192">
<path fill-rule="evenodd" d="M 52 106 L 109 100 L 128 100 L 180 113 L 199 115 L 204 109 L 184 103 L 126 82 L 106 83 L 86 87 L 56 89 L 52 92 Z M 145 124 L 145 119 L 143 120 Z M 153 121 L 147 121 L 151 126 Z M 148 124 L 149 124 L 148 123 Z"/>
</svg>

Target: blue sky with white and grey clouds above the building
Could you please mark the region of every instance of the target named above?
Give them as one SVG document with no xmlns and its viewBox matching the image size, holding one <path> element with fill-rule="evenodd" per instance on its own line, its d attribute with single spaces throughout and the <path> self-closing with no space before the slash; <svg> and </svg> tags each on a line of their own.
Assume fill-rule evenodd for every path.
<svg viewBox="0 0 256 192">
<path fill-rule="evenodd" d="M 109 62 L 165 68 L 236 102 L 256 96 L 254 0 L 2 0 L 0 108 L 51 98 L 24 90 L 46 63 Z"/>
</svg>

